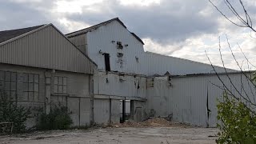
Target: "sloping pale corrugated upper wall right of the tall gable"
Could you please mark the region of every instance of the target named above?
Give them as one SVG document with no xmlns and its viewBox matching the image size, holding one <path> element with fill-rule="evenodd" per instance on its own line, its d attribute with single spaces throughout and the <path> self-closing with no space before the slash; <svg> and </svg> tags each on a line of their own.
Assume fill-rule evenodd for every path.
<svg viewBox="0 0 256 144">
<path fill-rule="evenodd" d="M 145 55 L 146 68 L 142 72 L 143 74 L 160 74 L 163 75 L 166 71 L 169 71 L 172 75 L 185 75 L 185 74 L 210 74 L 214 73 L 212 66 L 194 62 L 182 58 L 174 58 L 161 54 L 154 54 L 146 52 Z M 222 67 L 215 66 L 218 73 L 225 72 Z M 234 70 L 229 70 L 229 72 Z"/>
</svg>

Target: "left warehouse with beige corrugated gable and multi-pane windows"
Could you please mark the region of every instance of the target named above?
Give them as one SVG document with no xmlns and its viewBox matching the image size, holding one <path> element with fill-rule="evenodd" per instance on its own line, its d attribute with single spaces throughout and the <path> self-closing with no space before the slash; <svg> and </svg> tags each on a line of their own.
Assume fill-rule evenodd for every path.
<svg viewBox="0 0 256 144">
<path fill-rule="evenodd" d="M 18 105 L 46 113 L 61 103 L 74 126 L 93 122 L 90 88 L 96 67 L 52 24 L 0 32 L 0 90 Z"/>
</svg>

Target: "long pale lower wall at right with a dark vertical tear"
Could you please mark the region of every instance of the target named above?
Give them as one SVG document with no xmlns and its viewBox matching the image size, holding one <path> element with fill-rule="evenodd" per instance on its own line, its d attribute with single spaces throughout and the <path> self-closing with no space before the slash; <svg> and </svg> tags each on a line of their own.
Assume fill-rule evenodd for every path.
<svg viewBox="0 0 256 144">
<path fill-rule="evenodd" d="M 250 90 L 250 85 L 244 76 L 241 74 L 229 74 L 234 86 L 242 94 L 242 85 L 246 93 L 253 100 L 253 94 L 256 95 L 255 89 L 253 94 Z M 225 74 L 221 75 L 222 81 L 225 82 L 230 90 L 234 91 L 234 86 L 231 85 L 229 78 Z M 160 81 L 160 82 L 158 82 Z M 160 84 L 159 84 L 160 83 Z M 172 87 L 165 88 L 162 84 L 164 81 L 155 80 L 155 93 L 148 93 L 148 113 L 154 110 L 155 116 L 167 117 L 173 115 L 175 122 L 188 122 L 196 126 L 216 126 L 217 120 L 217 98 L 222 96 L 223 90 L 217 86 L 222 86 L 216 75 L 191 76 L 183 78 L 172 78 Z M 214 83 L 217 86 L 214 86 Z M 166 94 L 162 94 L 166 93 Z M 207 97 L 208 109 L 210 110 L 209 118 L 207 116 Z"/>
</svg>

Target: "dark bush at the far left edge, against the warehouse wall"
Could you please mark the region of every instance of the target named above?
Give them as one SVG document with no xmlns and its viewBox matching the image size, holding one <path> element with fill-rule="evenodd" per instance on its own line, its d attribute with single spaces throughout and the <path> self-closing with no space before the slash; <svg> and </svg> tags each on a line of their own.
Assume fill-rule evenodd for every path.
<svg viewBox="0 0 256 144">
<path fill-rule="evenodd" d="M 2 90 L 0 98 L 0 122 L 12 122 L 14 133 L 26 130 L 26 120 L 31 118 L 30 108 L 17 106 L 16 102 L 8 98 Z"/>
</svg>

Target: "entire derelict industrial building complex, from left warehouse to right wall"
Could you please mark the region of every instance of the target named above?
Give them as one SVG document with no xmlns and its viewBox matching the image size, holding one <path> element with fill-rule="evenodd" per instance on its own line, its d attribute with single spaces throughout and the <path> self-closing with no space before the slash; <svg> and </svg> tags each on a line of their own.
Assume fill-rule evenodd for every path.
<svg viewBox="0 0 256 144">
<path fill-rule="evenodd" d="M 52 24 L 1 31 L 0 90 L 46 113 L 60 102 L 74 126 L 124 121 L 127 112 L 137 122 L 169 116 L 216 126 L 222 90 L 212 85 L 220 84 L 213 67 L 145 52 L 143 45 L 118 18 L 66 35 Z M 226 70 L 214 69 L 230 86 Z M 227 71 L 241 85 L 242 75 Z"/>
</svg>

